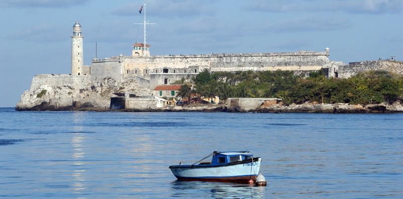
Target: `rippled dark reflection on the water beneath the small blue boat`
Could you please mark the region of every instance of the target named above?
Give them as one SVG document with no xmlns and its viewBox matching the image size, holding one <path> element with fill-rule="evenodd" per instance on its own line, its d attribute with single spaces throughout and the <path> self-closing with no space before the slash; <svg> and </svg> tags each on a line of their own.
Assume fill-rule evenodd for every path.
<svg viewBox="0 0 403 199">
<path fill-rule="evenodd" d="M 230 182 L 181 181 L 171 182 L 173 197 L 264 198 L 266 187 Z"/>
</svg>

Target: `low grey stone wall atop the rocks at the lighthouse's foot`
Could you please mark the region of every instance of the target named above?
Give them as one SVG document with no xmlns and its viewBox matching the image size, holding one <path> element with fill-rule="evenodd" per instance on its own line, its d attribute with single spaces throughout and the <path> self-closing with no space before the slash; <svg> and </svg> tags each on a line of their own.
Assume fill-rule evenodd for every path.
<svg viewBox="0 0 403 199">
<path fill-rule="evenodd" d="M 70 85 L 75 89 L 82 89 L 86 84 L 90 82 L 90 76 L 88 75 L 51 75 L 41 74 L 35 75 L 31 83 L 31 91 L 36 90 L 41 85 Z"/>
</svg>

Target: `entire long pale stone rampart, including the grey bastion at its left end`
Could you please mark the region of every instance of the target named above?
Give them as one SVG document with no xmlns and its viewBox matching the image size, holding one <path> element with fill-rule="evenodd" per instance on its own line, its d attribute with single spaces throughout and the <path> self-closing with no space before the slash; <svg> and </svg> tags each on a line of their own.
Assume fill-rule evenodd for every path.
<svg viewBox="0 0 403 199">
<path fill-rule="evenodd" d="M 199 73 L 210 71 L 320 70 L 329 63 L 328 52 L 299 51 L 293 53 L 242 53 L 209 55 L 118 56 L 94 59 L 93 79 L 142 76 L 153 73 Z M 165 71 L 164 71 L 165 70 Z"/>
</svg>

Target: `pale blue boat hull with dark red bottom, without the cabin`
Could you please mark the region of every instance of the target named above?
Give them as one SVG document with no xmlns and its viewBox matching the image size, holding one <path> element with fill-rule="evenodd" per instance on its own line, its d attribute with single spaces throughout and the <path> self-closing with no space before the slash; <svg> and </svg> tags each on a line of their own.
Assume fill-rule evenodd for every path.
<svg viewBox="0 0 403 199">
<path fill-rule="evenodd" d="M 199 181 L 249 181 L 256 180 L 261 158 L 234 162 L 226 165 L 188 165 L 170 166 L 172 173 L 179 180 Z"/>
</svg>

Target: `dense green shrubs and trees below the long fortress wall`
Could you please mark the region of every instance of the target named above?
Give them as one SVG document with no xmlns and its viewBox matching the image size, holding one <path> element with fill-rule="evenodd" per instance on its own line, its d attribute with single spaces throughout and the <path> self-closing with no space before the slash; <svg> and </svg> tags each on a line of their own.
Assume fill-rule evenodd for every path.
<svg viewBox="0 0 403 199">
<path fill-rule="evenodd" d="M 291 71 L 214 72 L 205 70 L 193 79 L 195 86 L 183 87 L 180 96 L 278 97 L 285 104 L 349 103 L 379 104 L 401 100 L 403 76 L 375 70 L 361 72 L 348 79 L 329 78 L 323 71 L 311 72 L 308 78 Z"/>
</svg>

